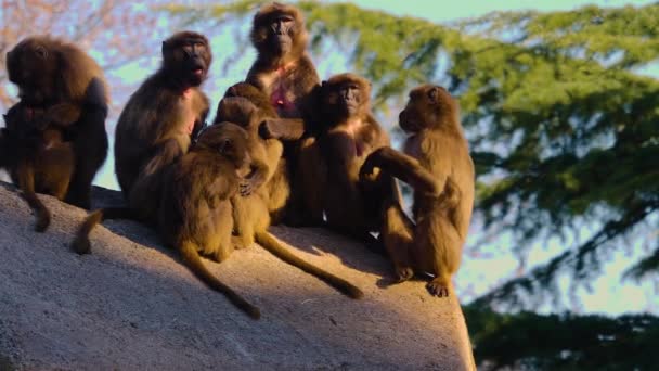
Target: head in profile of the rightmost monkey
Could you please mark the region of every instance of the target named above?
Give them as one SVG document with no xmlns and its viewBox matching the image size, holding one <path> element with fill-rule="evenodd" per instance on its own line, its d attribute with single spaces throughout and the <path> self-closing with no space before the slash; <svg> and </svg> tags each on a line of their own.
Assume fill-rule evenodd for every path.
<svg viewBox="0 0 659 371">
<path fill-rule="evenodd" d="M 444 88 L 423 85 L 410 92 L 408 104 L 398 119 L 405 132 L 418 132 L 424 128 L 438 128 L 447 121 L 452 123 L 456 111 L 455 101 Z"/>
</svg>

